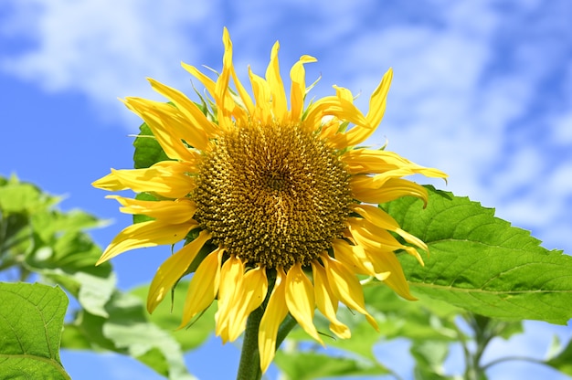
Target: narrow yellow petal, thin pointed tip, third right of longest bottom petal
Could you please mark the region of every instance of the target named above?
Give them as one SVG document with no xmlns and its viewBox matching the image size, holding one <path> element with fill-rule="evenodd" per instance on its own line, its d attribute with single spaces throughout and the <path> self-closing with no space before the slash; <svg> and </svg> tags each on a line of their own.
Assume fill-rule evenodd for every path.
<svg viewBox="0 0 572 380">
<path fill-rule="evenodd" d="M 336 259 L 330 258 L 327 254 L 320 256 L 325 268 L 326 278 L 335 298 L 344 302 L 348 307 L 365 315 L 365 319 L 377 331 L 377 322 L 366 310 L 364 301 L 364 291 L 355 277 L 355 274 L 344 267 Z"/>
</svg>

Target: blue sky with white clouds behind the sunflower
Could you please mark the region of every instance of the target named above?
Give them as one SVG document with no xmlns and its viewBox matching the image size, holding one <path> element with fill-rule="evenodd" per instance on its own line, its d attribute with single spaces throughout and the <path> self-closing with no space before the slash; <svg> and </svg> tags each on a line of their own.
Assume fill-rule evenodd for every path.
<svg viewBox="0 0 572 380">
<path fill-rule="evenodd" d="M 117 98 L 160 100 L 145 77 L 193 95 L 180 61 L 219 69 L 228 26 L 245 81 L 249 64 L 263 74 L 280 40 L 284 78 L 310 54 L 318 62 L 306 67 L 309 81 L 322 75 L 312 94 L 343 86 L 363 93 L 357 103 L 366 110 L 393 67 L 386 117 L 369 142 L 387 139 L 388 149 L 440 168 L 450 174 L 447 190 L 495 207 L 546 248 L 570 253 L 570 19 L 567 0 L 4 0 L 0 174 L 67 195 L 64 209 L 113 219 L 92 234 L 105 246 L 130 220 L 90 183 L 111 167 L 132 167 L 128 134 L 140 124 Z M 147 249 L 113 259 L 119 286 L 149 280 L 167 254 Z M 554 332 L 572 334 L 527 326 L 525 339 L 493 344 L 492 355 L 520 350 L 542 357 Z M 222 372 L 201 372 L 209 360 Z M 74 378 L 158 378 L 120 356 L 64 354 L 63 361 Z M 232 377 L 238 350 L 213 340 L 188 363 L 201 378 Z M 540 370 L 506 364 L 491 375 L 516 379 Z"/>
</svg>

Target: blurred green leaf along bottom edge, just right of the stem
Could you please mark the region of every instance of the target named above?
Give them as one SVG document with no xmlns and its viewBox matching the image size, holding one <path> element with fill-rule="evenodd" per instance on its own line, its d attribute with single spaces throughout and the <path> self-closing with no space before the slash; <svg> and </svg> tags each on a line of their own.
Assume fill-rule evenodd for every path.
<svg viewBox="0 0 572 380">
<path fill-rule="evenodd" d="M 331 376 L 387 375 L 375 362 L 312 352 L 276 353 L 275 363 L 290 379 L 310 380 Z"/>
</svg>

